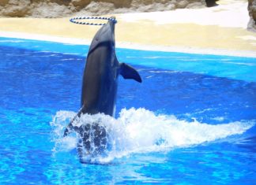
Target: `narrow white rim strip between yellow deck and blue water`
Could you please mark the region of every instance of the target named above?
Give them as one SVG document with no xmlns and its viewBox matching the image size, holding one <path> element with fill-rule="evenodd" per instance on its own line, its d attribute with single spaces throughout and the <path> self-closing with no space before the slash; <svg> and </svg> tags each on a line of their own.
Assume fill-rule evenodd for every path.
<svg viewBox="0 0 256 185">
<path fill-rule="evenodd" d="M 38 41 L 47 41 L 54 43 L 66 43 L 74 45 L 90 45 L 90 39 L 76 39 L 66 38 L 51 35 L 38 35 L 28 34 L 21 32 L 12 31 L 0 31 L 0 37 L 14 38 L 14 39 L 32 39 Z M 256 52 L 253 50 L 228 50 L 228 49 L 217 49 L 217 48 L 199 48 L 195 46 L 160 46 L 160 45 L 143 45 L 139 43 L 126 43 L 116 42 L 117 48 L 126 48 L 132 50 L 153 50 L 163 52 L 178 52 L 188 54 L 216 54 L 236 57 L 256 57 Z"/>
</svg>

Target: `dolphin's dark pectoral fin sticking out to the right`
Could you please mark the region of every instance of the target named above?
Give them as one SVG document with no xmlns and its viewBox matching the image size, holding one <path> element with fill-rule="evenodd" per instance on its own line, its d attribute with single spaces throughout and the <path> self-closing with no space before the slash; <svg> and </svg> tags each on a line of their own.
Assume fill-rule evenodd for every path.
<svg viewBox="0 0 256 185">
<path fill-rule="evenodd" d="M 126 65 L 125 63 L 121 63 L 119 65 L 120 68 L 120 74 L 124 79 L 134 79 L 137 82 L 141 83 L 141 76 L 139 73 L 130 65 Z"/>
</svg>

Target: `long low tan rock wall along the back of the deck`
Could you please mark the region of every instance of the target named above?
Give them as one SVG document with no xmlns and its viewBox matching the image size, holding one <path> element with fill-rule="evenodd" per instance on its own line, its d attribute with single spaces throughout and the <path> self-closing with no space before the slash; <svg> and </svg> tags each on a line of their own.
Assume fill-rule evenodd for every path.
<svg viewBox="0 0 256 185">
<path fill-rule="evenodd" d="M 205 6 L 205 0 L 0 0 L 0 17 L 70 17 Z"/>
</svg>

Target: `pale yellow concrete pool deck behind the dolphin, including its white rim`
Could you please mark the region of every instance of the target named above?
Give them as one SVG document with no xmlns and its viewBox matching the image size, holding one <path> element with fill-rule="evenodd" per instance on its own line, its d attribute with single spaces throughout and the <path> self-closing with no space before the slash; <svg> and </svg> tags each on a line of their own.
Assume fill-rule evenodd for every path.
<svg viewBox="0 0 256 185">
<path fill-rule="evenodd" d="M 117 14 L 116 46 L 256 57 L 256 33 L 247 31 L 247 1 L 218 3 L 220 6 L 210 9 Z M 99 27 L 72 24 L 69 20 L 70 17 L 0 18 L 0 37 L 89 45 Z"/>
</svg>

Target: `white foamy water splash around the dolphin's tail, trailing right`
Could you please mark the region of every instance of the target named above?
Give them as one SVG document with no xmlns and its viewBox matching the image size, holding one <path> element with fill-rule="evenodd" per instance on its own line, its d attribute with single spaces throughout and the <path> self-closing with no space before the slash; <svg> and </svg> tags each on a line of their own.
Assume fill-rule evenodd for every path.
<svg viewBox="0 0 256 185">
<path fill-rule="evenodd" d="M 53 128 L 54 152 L 69 151 L 76 148 L 77 135 L 63 138 L 66 125 L 76 115 L 73 112 L 59 111 L 51 122 Z M 242 134 L 254 126 L 253 122 L 233 122 L 229 124 L 203 124 L 197 120 L 187 122 L 178 120 L 175 116 L 156 115 L 146 109 L 122 109 L 119 118 L 104 114 L 82 115 L 76 122 L 81 124 L 101 124 L 107 130 L 111 149 L 104 157 L 97 157 L 100 162 L 112 161 L 132 153 L 145 153 L 159 150 L 171 150 L 175 147 L 188 147 L 203 142 L 213 142 L 230 135 Z"/>
</svg>

